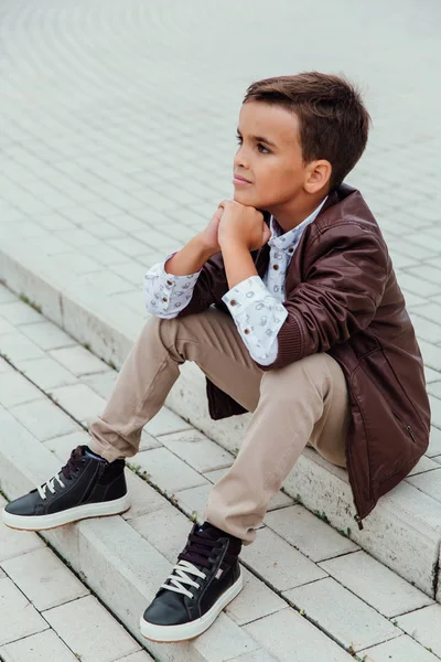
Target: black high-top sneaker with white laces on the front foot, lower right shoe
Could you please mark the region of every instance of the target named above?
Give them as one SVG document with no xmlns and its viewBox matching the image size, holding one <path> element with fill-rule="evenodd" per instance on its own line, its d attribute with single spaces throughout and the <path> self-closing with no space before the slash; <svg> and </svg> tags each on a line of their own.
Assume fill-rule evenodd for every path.
<svg viewBox="0 0 441 662">
<path fill-rule="evenodd" d="M 194 524 L 173 572 L 141 618 L 151 641 L 194 639 L 214 622 L 243 588 L 241 541 L 204 522 Z"/>
</svg>

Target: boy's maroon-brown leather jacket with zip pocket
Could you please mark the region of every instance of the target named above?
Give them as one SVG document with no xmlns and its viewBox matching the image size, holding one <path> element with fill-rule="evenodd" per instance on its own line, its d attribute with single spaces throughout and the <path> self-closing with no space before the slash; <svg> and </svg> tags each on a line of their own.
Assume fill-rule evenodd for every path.
<svg viewBox="0 0 441 662">
<path fill-rule="evenodd" d="M 269 216 L 266 218 L 269 220 Z M 269 247 L 254 252 L 263 276 Z M 203 267 L 181 316 L 211 305 L 228 312 L 222 254 Z M 381 232 L 362 194 L 343 184 L 304 231 L 286 281 L 288 318 L 275 370 L 327 352 L 346 377 L 352 421 L 346 461 L 361 521 L 415 467 L 429 444 L 430 406 L 421 353 Z M 245 409 L 209 380 L 212 418 Z"/>
</svg>

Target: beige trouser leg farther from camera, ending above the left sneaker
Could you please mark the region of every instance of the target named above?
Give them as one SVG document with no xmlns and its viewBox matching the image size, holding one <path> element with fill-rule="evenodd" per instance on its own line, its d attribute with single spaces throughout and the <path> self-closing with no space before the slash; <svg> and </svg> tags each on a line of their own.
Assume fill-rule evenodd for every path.
<svg viewBox="0 0 441 662">
<path fill-rule="evenodd" d="M 185 361 L 194 361 L 248 410 L 256 408 L 262 371 L 230 316 L 209 308 L 171 320 L 151 317 L 118 374 L 103 415 L 88 421 L 90 449 L 109 461 L 135 456 L 143 426 L 162 407 Z"/>
</svg>

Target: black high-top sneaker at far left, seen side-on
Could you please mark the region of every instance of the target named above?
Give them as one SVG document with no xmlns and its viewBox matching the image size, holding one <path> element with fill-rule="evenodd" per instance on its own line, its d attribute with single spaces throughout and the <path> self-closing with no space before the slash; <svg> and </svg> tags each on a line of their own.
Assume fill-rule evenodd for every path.
<svg viewBox="0 0 441 662">
<path fill-rule="evenodd" d="M 58 473 L 8 503 L 3 509 L 4 524 L 24 531 L 42 531 L 127 511 L 130 499 L 125 460 L 108 462 L 88 453 L 92 451 L 87 446 L 77 446 Z"/>
</svg>

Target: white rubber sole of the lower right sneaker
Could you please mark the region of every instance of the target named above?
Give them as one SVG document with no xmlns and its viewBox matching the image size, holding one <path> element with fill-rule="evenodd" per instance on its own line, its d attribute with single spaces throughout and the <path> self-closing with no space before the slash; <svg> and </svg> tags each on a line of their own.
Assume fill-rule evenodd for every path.
<svg viewBox="0 0 441 662">
<path fill-rule="evenodd" d="M 187 641 L 198 637 L 205 630 L 209 628 L 219 616 L 220 611 L 239 595 L 244 587 L 244 577 L 240 572 L 239 578 L 233 586 L 226 590 L 215 605 L 204 613 L 201 618 L 190 622 L 182 623 L 181 626 L 157 626 L 149 623 L 143 617 L 140 621 L 140 630 L 142 637 L 150 641 L 157 641 L 158 643 L 175 643 L 178 641 Z"/>
</svg>

